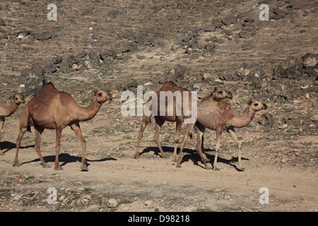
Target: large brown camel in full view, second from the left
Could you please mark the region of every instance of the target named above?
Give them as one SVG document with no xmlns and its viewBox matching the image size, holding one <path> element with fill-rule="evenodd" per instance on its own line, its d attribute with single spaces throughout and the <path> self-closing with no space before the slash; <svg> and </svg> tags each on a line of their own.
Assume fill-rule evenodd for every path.
<svg viewBox="0 0 318 226">
<path fill-rule="evenodd" d="M 75 102 L 69 93 L 57 90 L 54 88 L 52 83 L 45 84 L 40 94 L 33 97 L 28 104 L 25 105 L 21 113 L 19 135 L 16 141 L 16 157 L 13 162 L 13 167 L 19 166 L 18 150 L 25 131 L 30 131 L 30 126 L 34 126 L 35 150 L 40 157 L 42 167 L 49 167 L 43 160 L 40 150 L 42 132 L 45 129 L 55 129 L 56 143 L 54 169 L 63 169 L 59 165 L 61 132 L 66 126 L 70 126 L 78 137 L 78 140 L 81 141 L 82 145 L 82 160 L 80 168 L 82 170 L 88 170 L 85 160 L 87 143 L 82 136 L 79 123 L 80 121 L 93 119 L 102 106 L 102 103 L 107 100 L 112 100 L 112 95 L 103 90 L 94 90 L 93 94 L 93 100 L 91 100 L 88 107 L 81 107 Z"/>
</svg>

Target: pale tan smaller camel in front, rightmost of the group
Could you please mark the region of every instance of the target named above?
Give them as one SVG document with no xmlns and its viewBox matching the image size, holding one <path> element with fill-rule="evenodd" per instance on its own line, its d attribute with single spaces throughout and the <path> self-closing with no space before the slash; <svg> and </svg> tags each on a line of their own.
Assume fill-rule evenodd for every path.
<svg viewBox="0 0 318 226">
<path fill-rule="evenodd" d="M 216 155 L 214 157 L 213 170 L 219 170 L 217 167 L 217 161 L 218 152 L 220 150 L 220 137 L 222 136 L 222 132 L 226 130 L 230 134 L 233 141 L 235 141 L 235 143 L 237 144 L 239 165 L 237 169 L 240 171 L 244 171 L 245 169 L 242 167 L 241 160 L 242 142 L 237 139 L 235 128 L 242 128 L 247 126 L 254 118 L 256 112 L 262 109 L 267 109 L 266 104 L 254 99 L 249 100 L 247 109 L 242 116 L 238 116 L 237 114 L 235 114 L 230 103 L 225 100 L 221 100 L 220 102 L 218 102 L 217 109 L 214 109 L 213 111 L 209 109 L 209 105 L 211 105 L 211 102 L 202 102 L 201 105 L 199 105 L 198 107 L 197 121 L 195 124 L 196 133 L 198 135 L 198 152 L 200 153 L 203 151 L 201 150 L 201 148 L 203 149 L 203 134 L 205 129 L 208 128 L 216 131 Z M 177 167 L 181 167 L 180 163 L 182 150 L 184 149 L 184 143 L 187 142 L 187 138 L 191 135 L 193 127 L 193 124 L 189 124 L 187 126 L 186 133 L 184 135 L 182 143 L 180 144 L 180 153 Z"/>
</svg>

